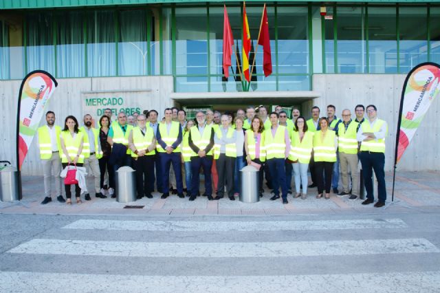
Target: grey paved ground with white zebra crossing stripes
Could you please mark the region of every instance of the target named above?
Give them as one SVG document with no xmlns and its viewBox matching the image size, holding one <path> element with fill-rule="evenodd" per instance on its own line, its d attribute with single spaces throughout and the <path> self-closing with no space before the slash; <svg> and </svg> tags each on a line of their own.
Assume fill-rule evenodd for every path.
<svg viewBox="0 0 440 293">
<path fill-rule="evenodd" d="M 23 181 L 22 202 L 0 202 L 2 293 L 440 292 L 436 172 L 399 173 L 386 208 L 267 194 L 41 206 L 41 177 Z"/>
</svg>

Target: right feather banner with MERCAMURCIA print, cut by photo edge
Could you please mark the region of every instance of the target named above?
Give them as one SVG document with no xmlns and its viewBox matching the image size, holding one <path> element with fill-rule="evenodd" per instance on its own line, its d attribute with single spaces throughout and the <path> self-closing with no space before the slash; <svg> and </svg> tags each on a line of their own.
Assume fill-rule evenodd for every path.
<svg viewBox="0 0 440 293">
<path fill-rule="evenodd" d="M 410 144 L 432 101 L 439 94 L 439 79 L 440 67 L 435 63 L 423 63 L 412 69 L 406 77 L 396 163 Z"/>
</svg>

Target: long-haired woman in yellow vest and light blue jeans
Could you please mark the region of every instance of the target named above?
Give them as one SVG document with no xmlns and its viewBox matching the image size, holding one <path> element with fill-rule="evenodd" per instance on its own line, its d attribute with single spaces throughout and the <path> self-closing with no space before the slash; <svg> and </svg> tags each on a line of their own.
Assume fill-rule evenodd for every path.
<svg viewBox="0 0 440 293">
<path fill-rule="evenodd" d="M 307 169 L 311 159 L 311 150 L 314 145 L 314 132 L 307 129 L 307 124 L 303 116 L 295 120 L 295 127 L 291 134 L 291 148 L 289 159 L 294 162 L 295 191 L 294 198 L 307 198 Z M 303 186 L 303 193 L 300 187 Z"/>
</svg>

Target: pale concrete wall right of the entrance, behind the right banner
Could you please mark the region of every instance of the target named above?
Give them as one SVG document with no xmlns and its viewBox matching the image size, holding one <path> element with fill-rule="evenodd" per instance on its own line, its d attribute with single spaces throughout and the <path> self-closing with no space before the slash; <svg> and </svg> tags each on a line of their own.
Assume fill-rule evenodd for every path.
<svg viewBox="0 0 440 293">
<path fill-rule="evenodd" d="M 387 171 L 391 171 L 394 164 L 399 103 L 405 78 L 404 74 L 315 74 L 313 89 L 320 92 L 321 96 L 314 100 L 314 105 L 320 107 L 322 116 L 327 116 L 327 105 L 335 105 L 339 118 L 344 108 L 350 109 L 354 117 L 355 105 L 376 105 L 377 116 L 388 122 L 385 167 Z M 397 171 L 440 170 L 439 113 L 440 98 L 437 98 L 432 102 L 421 126 L 397 164 Z M 310 116 L 310 113 L 307 115 Z"/>
</svg>

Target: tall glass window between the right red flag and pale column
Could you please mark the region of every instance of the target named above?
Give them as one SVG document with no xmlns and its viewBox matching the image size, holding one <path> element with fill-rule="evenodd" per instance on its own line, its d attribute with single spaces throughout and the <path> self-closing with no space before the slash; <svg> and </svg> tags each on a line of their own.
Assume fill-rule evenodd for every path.
<svg viewBox="0 0 440 293">
<path fill-rule="evenodd" d="M 307 7 L 277 8 L 278 19 L 278 73 L 307 73 L 309 72 L 309 41 Z M 272 20 L 272 28 L 274 22 Z M 275 35 L 270 32 L 271 39 Z M 275 56 L 275 44 L 272 49 L 272 59 Z"/>
</svg>

